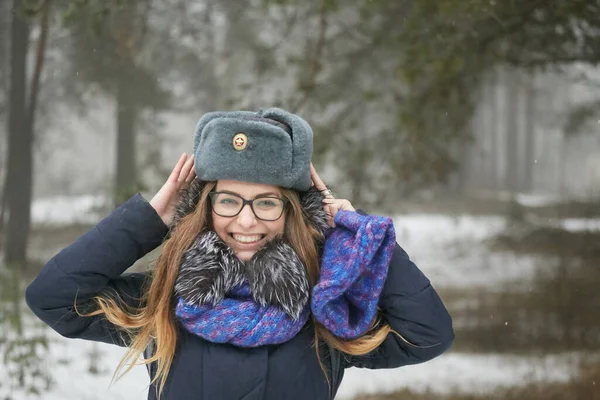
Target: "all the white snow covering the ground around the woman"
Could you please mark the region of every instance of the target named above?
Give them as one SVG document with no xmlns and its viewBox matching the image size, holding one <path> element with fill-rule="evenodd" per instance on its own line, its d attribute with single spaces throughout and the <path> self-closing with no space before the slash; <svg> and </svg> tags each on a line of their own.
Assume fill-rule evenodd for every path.
<svg viewBox="0 0 600 400">
<path fill-rule="evenodd" d="M 103 201 L 102 198 L 82 197 L 36 202 L 34 221 L 44 224 L 97 221 L 99 217 L 90 216 L 88 211 Z M 398 242 L 438 289 L 483 287 L 493 290 L 504 283 L 526 282 L 534 274 L 536 261 L 539 262 L 532 257 L 490 252 L 482 245 L 486 238 L 503 228 L 504 222 L 500 217 L 419 214 L 397 216 L 394 221 Z M 578 222 L 562 223 L 571 229 L 581 228 Z M 589 221 L 586 224 L 589 228 Z M 600 228 L 600 224 L 595 227 Z M 109 387 L 123 349 L 82 340 L 66 340 L 50 331 L 48 336 L 51 345 L 44 356 L 44 364 L 51 371 L 55 385 L 50 392 L 43 394 L 43 399 L 146 398 L 148 376 L 144 366 L 134 367 L 128 375 Z M 94 346 L 102 353 L 100 373 L 83 373 L 89 368 L 89 353 Z M 576 373 L 580 359 L 578 354 L 533 357 L 462 354 L 451 350 L 417 366 L 379 371 L 348 370 L 338 398 L 349 399 L 358 393 L 402 388 L 489 393 L 500 386 L 564 381 Z M 6 368 L 0 364 L 0 377 L 5 374 Z M 0 398 L 8 394 L 7 390 L 6 385 L 0 385 Z M 11 398 L 25 400 L 35 397 L 14 393 Z"/>
</svg>

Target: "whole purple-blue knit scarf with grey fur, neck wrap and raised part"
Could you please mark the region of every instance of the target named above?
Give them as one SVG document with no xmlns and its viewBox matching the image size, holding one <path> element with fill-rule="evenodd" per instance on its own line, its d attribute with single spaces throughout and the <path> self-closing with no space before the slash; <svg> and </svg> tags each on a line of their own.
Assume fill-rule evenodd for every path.
<svg viewBox="0 0 600 400">
<path fill-rule="evenodd" d="M 176 220 L 193 209 L 189 200 Z M 215 232 L 204 232 L 184 254 L 175 285 L 183 327 L 208 341 L 257 347 L 289 341 L 312 311 L 339 338 L 365 334 L 376 317 L 395 246 L 393 223 L 339 211 L 336 228 L 327 229 L 321 200 L 312 189 L 302 196 L 307 222 L 326 237 L 312 293 L 304 265 L 281 237 L 243 263 Z"/>
</svg>

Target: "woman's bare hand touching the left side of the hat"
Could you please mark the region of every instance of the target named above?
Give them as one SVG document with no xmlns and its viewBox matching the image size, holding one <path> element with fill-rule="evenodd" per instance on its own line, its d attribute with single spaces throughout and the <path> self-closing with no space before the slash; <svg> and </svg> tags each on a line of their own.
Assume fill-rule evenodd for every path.
<svg viewBox="0 0 600 400">
<path fill-rule="evenodd" d="M 187 154 L 183 153 L 167 181 L 150 200 L 150 205 L 165 225 L 169 226 L 173 222 L 181 190 L 187 189 L 195 177 L 194 156 L 188 158 Z"/>
</svg>

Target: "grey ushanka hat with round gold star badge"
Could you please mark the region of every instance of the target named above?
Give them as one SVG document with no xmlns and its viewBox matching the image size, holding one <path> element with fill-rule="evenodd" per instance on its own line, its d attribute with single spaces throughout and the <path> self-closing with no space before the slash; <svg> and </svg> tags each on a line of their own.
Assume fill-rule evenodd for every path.
<svg viewBox="0 0 600 400">
<path fill-rule="evenodd" d="M 313 132 L 299 116 L 280 108 L 258 112 L 210 112 L 194 133 L 196 175 L 306 191 L 310 188 Z"/>
</svg>

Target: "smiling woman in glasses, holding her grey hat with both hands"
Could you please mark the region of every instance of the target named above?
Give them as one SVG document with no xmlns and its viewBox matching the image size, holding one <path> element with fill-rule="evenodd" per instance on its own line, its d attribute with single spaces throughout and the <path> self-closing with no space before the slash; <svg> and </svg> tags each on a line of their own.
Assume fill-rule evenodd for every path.
<svg viewBox="0 0 600 400">
<path fill-rule="evenodd" d="M 59 252 L 27 303 L 63 336 L 129 347 L 119 367 L 143 354 L 150 399 L 332 399 L 345 368 L 442 354 L 451 318 L 391 220 L 333 198 L 311 157 L 297 115 L 206 114 L 152 200 Z M 163 241 L 152 273 L 123 274 Z"/>
</svg>

